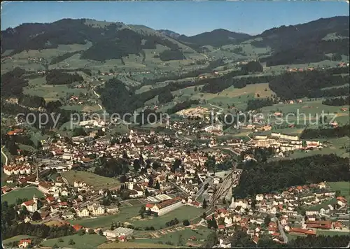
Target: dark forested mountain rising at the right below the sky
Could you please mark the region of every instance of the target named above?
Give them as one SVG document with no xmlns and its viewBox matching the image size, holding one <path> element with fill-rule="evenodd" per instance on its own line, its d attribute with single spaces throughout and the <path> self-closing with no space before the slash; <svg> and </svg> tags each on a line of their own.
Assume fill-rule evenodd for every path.
<svg viewBox="0 0 350 249">
<path fill-rule="evenodd" d="M 252 38 L 258 38 L 251 43 L 255 47 L 269 47 L 274 51 L 271 56 L 260 59 L 267 62 L 267 66 L 319 62 L 326 54 L 349 55 L 349 16 L 281 26 Z"/>
</svg>

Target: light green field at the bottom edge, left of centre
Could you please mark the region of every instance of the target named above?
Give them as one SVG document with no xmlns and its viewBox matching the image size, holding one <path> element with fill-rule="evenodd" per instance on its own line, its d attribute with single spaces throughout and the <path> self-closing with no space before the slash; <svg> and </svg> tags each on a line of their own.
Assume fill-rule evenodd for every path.
<svg viewBox="0 0 350 249">
<path fill-rule="evenodd" d="M 59 238 L 48 239 L 47 241 L 43 241 L 43 246 L 54 246 L 57 244 L 60 248 L 97 248 L 97 246 L 105 243 L 107 241 L 105 236 L 101 236 L 99 234 L 84 234 L 82 236 L 78 234 L 69 235 L 61 237 L 63 242 L 59 242 Z M 75 242 L 74 245 L 69 245 L 69 241 L 73 240 Z"/>
</svg>

